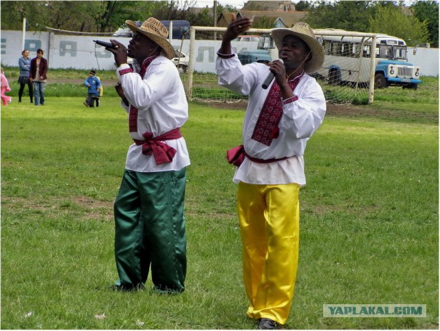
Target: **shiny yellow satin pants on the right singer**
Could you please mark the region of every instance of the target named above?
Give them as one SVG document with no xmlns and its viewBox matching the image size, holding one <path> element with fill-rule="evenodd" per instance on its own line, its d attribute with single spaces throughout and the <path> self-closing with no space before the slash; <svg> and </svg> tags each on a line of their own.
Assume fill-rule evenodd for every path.
<svg viewBox="0 0 440 331">
<path fill-rule="evenodd" d="M 248 317 L 285 324 L 298 266 L 298 184 L 239 183 L 238 214 Z"/>
</svg>

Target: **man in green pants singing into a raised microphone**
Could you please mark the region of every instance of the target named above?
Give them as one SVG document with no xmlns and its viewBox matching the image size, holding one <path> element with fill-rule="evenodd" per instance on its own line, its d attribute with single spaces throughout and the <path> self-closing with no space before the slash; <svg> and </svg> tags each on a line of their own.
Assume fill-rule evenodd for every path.
<svg viewBox="0 0 440 331">
<path fill-rule="evenodd" d="M 184 291 L 186 235 L 184 195 L 190 164 L 180 128 L 188 103 L 168 30 L 156 19 L 140 27 L 126 21 L 133 39 L 111 40 L 118 66 L 116 91 L 129 114 L 129 147 L 115 212 L 115 288 L 143 288 L 151 267 L 157 292 Z M 133 58 L 133 67 L 127 64 Z"/>
</svg>

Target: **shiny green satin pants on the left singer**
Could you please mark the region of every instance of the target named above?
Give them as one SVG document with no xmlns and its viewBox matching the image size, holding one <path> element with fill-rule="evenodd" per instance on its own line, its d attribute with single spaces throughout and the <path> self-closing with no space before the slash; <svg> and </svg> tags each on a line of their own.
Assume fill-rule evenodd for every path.
<svg viewBox="0 0 440 331">
<path fill-rule="evenodd" d="M 143 287 L 151 267 L 154 290 L 184 291 L 185 186 L 185 168 L 153 173 L 124 171 L 114 204 L 117 286 Z"/>
</svg>

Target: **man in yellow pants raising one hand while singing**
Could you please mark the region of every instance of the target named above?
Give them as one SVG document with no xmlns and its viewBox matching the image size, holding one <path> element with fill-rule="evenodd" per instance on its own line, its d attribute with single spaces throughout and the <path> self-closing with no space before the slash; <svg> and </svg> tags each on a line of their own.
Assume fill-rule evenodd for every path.
<svg viewBox="0 0 440 331">
<path fill-rule="evenodd" d="M 303 154 L 326 111 L 322 89 L 308 74 L 322 65 L 324 52 L 309 25 L 298 23 L 272 31 L 280 61 L 241 65 L 230 41 L 251 25 L 233 17 L 217 53 L 217 74 L 220 85 L 249 95 L 243 145 L 228 151 L 228 160 L 237 166 L 248 317 L 259 329 L 276 329 L 294 297 Z"/>
</svg>

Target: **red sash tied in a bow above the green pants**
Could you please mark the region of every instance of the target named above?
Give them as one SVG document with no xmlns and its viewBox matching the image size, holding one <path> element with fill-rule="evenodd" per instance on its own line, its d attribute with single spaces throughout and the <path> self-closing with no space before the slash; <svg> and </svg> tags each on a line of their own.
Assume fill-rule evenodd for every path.
<svg viewBox="0 0 440 331">
<path fill-rule="evenodd" d="M 137 146 L 142 145 L 142 154 L 151 155 L 151 153 L 153 153 L 157 165 L 173 161 L 176 150 L 160 140 L 175 140 L 181 138 L 179 127 L 156 137 L 153 137 L 151 132 L 146 132 L 142 136 L 145 140 L 133 139 Z"/>
</svg>

